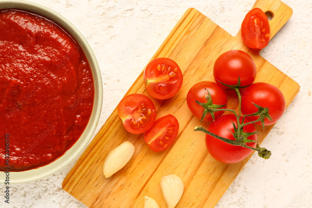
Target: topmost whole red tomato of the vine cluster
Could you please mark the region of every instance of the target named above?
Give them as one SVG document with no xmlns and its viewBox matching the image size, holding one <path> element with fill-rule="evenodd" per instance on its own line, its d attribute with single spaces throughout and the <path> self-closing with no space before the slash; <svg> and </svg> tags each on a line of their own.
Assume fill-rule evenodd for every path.
<svg viewBox="0 0 312 208">
<path fill-rule="evenodd" d="M 255 62 L 246 52 L 240 50 L 231 50 L 221 54 L 213 66 L 214 79 L 224 89 L 228 89 L 228 87 L 220 82 L 236 85 L 238 76 L 241 86 L 251 85 L 256 78 L 256 73 Z"/>
</svg>

